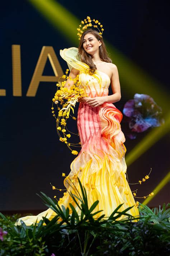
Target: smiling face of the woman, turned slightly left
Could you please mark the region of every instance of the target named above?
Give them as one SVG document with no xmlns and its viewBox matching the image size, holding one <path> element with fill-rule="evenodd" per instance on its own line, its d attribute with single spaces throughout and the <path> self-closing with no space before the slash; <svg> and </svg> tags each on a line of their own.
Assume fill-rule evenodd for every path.
<svg viewBox="0 0 170 256">
<path fill-rule="evenodd" d="M 93 34 L 88 33 L 84 36 L 82 45 L 87 53 L 93 55 L 95 52 L 99 52 L 99 46 L 101 45 L 101 41 L 98 41 Z"/>
</svg>

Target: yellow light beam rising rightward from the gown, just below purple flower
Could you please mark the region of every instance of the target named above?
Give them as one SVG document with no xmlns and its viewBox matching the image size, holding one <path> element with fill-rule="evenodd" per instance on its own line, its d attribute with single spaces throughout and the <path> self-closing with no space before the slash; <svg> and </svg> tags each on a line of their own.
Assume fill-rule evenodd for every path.
<svg viewBox="0 0 170 256">
<path fill-rule="evenodd" d="M 129 152 L 126 156 L 127 166 L 131 165 L 148 148 L 152 147 L 160 138 L 162 138 L 170 129 L 170 113 L 165 116 L 165 124 L 152 130 Z"/>
</svg>

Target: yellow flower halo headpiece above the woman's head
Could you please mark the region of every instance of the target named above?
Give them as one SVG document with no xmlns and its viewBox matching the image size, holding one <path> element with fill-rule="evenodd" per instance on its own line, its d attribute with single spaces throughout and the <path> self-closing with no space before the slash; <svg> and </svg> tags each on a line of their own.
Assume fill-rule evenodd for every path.
<svg viewBox="0 0 170 256">
<path fill-rule="evenodd" d="M 92 22 L 94 22 L 95 24 L 93 25 Z M 84 26 L 82 27 L 82 25 L 84 25 Z M 77 28 L 77 30 L 78 30 L 77 35 L 79 36 L 79 40 L 80 40 L 84 30 L 87 29 L 87 28 L 90 28 L 90 27 L 97 28 L 99 30 L 100 37 L 102 37 L 103 31 L 104 31 L 103 25 L 101 25 L 100 22 L 97 19 L 96 20 L 95 19 L 91 20 L 90 17 L 87 16 L 86 19 L 81 20 L 79 28 Z M 101 31 L 100 31 L 99 27 L 101 28 Z"/>
</svg>

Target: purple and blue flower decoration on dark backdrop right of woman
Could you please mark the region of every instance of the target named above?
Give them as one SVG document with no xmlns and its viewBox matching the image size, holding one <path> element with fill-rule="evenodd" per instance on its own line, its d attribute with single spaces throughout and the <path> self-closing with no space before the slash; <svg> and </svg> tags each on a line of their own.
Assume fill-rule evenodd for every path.
<svg viewBox="0 0 170 256">
<path fill-rule="evenodd" d="M 124 105 L 123 114 L 127 116 L 125 122 L 130 129 L 127 136 L 131 139 L 135 139 L 137 133 L 165 123 L 161 107 L 146 94 L 135 93 L 134 99 L 128 100 Z"/>
</svg>

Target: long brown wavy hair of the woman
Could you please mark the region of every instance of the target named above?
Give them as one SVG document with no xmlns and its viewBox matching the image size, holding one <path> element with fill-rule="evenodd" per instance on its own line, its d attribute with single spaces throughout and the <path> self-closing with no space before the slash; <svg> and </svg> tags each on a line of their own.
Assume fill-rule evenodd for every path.
<svg viewBox="0 0 170 256">
<path fill-rule="evenodd" d="M 104 41 L 103 41 L 103 38 L 100 37 L 98 31 L 92 29 L 92 28 L 89 28 L 87 30 L 85 30 L 83 33 L 82 33 L 82 36 L 81 36 L 81 39 L 80 39 L 80 44 L 79 44 L 79 47 L 78 47 L 78 50 L 79 50 L 79 53 L 78 53 L 78 56 L 80 58 L 80 61 L 86 63 L 87 65 L 89 65 L 90 67 L 90 73 L 93 74 L 95 72 L 95 70 L 97 69 L 96 65 L 93 63 L 92 61 L 92 57 L 90 54 L 88 54 L 84 48 L 83 48 L 83 40 L 84 40 L 84 36 L 88 33 L 91 33 L 93 34 L 93 36 L 96 37 L 96 39 L 99 41 L 101 41 L 101 45 L 99 46 L 99 57 L 101 60 L 105 61 L 105 62 L 109 62 L 109 63 L 112 63 L 112 60 L 109 58 L 108 56 L 108 52 L 106 50 L 106 46 L 104 44 Z"/>
</svg>

